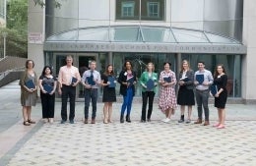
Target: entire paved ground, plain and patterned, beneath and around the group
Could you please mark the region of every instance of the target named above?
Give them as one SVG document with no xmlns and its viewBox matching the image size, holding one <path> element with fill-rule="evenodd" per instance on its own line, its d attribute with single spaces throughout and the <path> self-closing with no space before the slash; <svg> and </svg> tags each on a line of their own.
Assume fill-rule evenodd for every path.
<svg viewBox="0 0 256 166">
<path fill-rule="evenodd" d="M 121 103 L 113 107 L 111 124 L 102 123 L 102 103 L 96 124 L 83 124 L 84 103 L 76 106 L 75 124 L 43 123 L 38 103 L 35 125 L 22 125 L 17 82 L 0 88 L 0 165 L 256 165 L 256 105 L 228 104 L 226 129 L 178 124 L 179 110 L 168 124 L 154 106 L 153 121 L 140 123 L 141 104 L 133 105 L 132 123 L 119 123 Z M 211 123 L 217 111 L 210 105 Z M 196 120 L 193 108 L 193 120 Z"/>
</svg>

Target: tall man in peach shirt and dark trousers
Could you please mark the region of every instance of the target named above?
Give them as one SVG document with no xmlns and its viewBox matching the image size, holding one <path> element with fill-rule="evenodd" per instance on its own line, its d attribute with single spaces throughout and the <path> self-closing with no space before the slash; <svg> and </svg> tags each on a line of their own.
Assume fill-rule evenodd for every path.
<svg viewBox="0 0 256 166">
<path fill-rule="evenodd" d="M 71 55 L 66 57 L 66 65 L 61 67 L 58 75 L 58 92 L 61 95 L 61 124 L 67 121 L 67 103 L 70 102 L 69 122 L 74 124 L 75 103 L 76 103 L 76 86 L 81 81 L 78 68 L 73 66 Z"/>
</svg>

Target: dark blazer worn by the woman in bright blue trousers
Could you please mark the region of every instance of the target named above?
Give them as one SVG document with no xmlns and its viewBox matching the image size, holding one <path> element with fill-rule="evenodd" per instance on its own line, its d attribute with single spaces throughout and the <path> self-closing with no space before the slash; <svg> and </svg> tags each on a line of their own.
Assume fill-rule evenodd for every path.
<svg viewBox="0 0 256 166">
<path fill-rule="evenodd" d="M 123 83 L 126 83 L 127 82 L 127 75 L 125 75 L 126 71 L 122 71 L 120 74 L 119 74 L 119 77 L 118 77 L 118 83 L 120 83 L 120 94 L 126 96 L 126 93 L 127 93 L 127 85 L 126 84 L 123 84 Z M 132 71 L 132 75 L 134 77 L 134 82 L 137 82 L 137 76 L 136 76 L 136 73 L 134 71 Z M 135 95 L 135 86 L 134 84 L 132 84 L 131 86 L 132 90 L 133 90 L 133 96 Z"/>
</svg>

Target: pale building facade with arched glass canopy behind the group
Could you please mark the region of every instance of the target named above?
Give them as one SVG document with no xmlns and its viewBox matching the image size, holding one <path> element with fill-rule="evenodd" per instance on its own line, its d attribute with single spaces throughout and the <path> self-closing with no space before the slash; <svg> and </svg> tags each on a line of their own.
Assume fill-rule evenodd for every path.
<svg viewBox="0 0 256 166">
<path fill-rule="evenodd" d="M 96 60 L 99 72 L 112 64 L 117 76 L 125 60 L 139 77 L 148 62 L 160 73 L 169 61 L 176 74 L 183 59 L 194 70 L 204 61 L 212 72 L 222 63 L 228 97 L 256 101 L 253 0 L 63 0 L 61 8 L 45 3 L 29 5 L 29 58 L 38 73 L 50 65 L 57 75 L 66 55 L 81 74 Z M 77 97 L 83 96 L 80 86 Z"/>
</svg>

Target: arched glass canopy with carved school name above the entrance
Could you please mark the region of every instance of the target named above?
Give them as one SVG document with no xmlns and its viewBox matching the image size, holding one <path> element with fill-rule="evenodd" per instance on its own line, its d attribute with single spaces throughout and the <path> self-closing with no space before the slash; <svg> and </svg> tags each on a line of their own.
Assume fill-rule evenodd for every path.
<svg viewBox="0 0 256 166">
<path fill-rule="evenodd" d="M 245 54 L 239 41 L 202 30 L 145 26 L 79 28 L 49 36 L 45 51 Z"/>
</svg>

